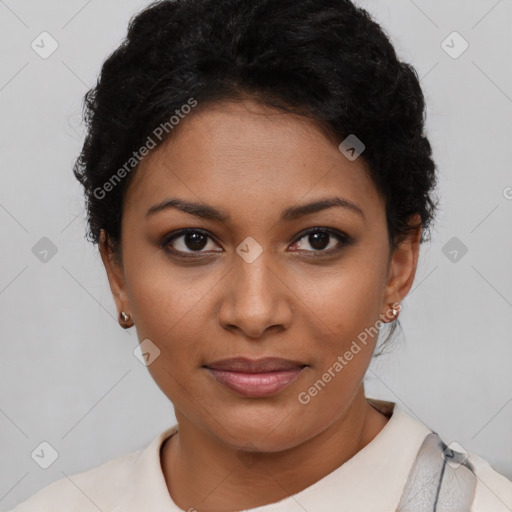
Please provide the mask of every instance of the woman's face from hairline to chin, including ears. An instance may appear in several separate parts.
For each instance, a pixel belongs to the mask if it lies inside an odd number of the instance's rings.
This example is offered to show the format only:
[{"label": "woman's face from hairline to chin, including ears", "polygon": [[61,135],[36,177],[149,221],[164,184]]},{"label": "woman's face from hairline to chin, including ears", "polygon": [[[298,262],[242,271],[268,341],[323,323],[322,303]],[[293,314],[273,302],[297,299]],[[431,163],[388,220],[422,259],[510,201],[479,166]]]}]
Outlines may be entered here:
[{"label": "woman's face from hairline to chin, including ears", "polygon": [[[308,119],[246,100],[193,112],[175,130],[127,191],[124,272],[102,247],[118,309],[158,347],[148,369],[180,424],[233,447],[296,446],[360,391],[380,315],[412,283],[414,249],[390,259],[384,202],[362,159]],[[169,200],[202,208],[155,210]],[[296,366],[274,379],[210,368],[239,357]]]}]

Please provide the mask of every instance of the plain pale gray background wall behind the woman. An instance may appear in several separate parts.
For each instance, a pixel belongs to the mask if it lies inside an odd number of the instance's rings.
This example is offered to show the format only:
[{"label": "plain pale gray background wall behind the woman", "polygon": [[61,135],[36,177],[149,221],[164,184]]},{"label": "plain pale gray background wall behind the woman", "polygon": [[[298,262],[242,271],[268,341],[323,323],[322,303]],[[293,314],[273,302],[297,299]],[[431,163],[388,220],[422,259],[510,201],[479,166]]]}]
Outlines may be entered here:
[{"label": "plain pale gray background wall behind the woman", "polygon": [[[3,511],[175,421],[133,355],[134,329],[116,322],[71,172],[82,96],[147,3],[0,0]],[[359,4],[421,77],[441,191],[400,316],[404,334],[370,367],[367,394],[400,403],[512,478],[512,2]],[[59,45],[47,59],[31,48],[43,31]],[[442,46],[453,31],[469,43],[457,58]],[[461,48],[453,36],[447,44]],[[43,237],[57,249],[46,262],[32,250]],[[59,453],[46,470],[31,458],[42,441]]]}]

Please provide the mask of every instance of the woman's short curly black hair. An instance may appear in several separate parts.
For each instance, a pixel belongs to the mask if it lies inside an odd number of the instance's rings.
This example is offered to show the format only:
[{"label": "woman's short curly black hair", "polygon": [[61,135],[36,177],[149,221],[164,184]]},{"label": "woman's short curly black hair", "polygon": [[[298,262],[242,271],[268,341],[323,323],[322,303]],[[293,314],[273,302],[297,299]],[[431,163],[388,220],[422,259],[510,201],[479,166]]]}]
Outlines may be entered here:
[{"label": "woman's short curly black hair", "polygon": [[[338,144],[355,134],[385,199],[391,247],[419,227],[414,214],[429,240],[436,166],[424,96],[367,11],[349,0],[161,0],[130,20],[84,98],[87,135],[73,172],[89,241],[103,229],[120,254],[123,197],[137,169],[126,162],[155,127],[191,98],[203,108],[248,96],[307,116]],[[105,187],[121,168],[127,176]]]}]

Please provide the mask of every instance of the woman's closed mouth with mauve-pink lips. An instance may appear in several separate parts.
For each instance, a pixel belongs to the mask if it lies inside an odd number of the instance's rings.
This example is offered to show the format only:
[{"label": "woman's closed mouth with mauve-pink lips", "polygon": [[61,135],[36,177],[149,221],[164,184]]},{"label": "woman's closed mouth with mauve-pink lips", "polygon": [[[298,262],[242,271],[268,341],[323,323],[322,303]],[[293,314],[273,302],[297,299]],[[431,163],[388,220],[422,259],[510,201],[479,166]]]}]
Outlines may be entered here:
[{"label": "woman's closed mouth with mauve-pink lips", "polygon": [[279,393],[297,380],[307,367],[298,361],[275,357],[256,360],[238,357],[204,366],[217,382],[250,398]]}]

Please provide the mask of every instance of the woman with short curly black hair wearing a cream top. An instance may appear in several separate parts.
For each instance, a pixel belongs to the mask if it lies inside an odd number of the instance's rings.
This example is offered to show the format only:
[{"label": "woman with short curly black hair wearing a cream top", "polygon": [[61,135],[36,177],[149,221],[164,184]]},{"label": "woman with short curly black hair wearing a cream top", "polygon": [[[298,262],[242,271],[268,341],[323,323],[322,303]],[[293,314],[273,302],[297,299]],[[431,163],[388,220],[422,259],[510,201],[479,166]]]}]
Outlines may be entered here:
[{"label": "woman with short curly black hair wearing a cream top", "polygon": [[177,425],[15,511],[511,510],[512,482],[364,391],[434,218],[424,109],[348,0],[135,17],[74,171]]}]

